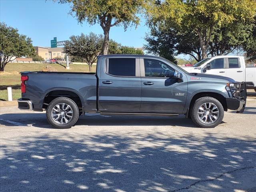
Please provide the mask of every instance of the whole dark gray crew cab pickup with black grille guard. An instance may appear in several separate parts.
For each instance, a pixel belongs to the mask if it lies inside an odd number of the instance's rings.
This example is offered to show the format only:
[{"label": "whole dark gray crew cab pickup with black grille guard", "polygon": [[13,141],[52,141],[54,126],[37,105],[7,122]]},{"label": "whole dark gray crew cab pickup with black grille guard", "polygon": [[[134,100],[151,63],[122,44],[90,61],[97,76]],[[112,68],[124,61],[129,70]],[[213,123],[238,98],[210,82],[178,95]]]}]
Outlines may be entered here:
[{"label": "whole dark gray crew cab pickup with black grille guard", "polygon": [[203,128],[222,122],[224,111],[243,112],[246,85],[231,78],[188,73],[169,60],[146,55],[98,56],[96,73],[21,72],[21,110],[46,110],[56,128],[80,115],[186,115]]}]

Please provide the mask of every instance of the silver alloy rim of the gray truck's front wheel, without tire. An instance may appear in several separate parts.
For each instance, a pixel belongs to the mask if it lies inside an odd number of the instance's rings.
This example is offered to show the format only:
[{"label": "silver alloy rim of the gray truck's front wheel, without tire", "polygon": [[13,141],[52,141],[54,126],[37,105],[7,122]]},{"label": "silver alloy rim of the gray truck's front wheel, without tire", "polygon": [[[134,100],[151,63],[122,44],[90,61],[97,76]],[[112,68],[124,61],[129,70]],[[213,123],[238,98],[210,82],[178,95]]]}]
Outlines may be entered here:
[{"label": "silver alloy rim of the gray truck's front wheel, without tire", "polygon": [[204,103],[198,108],[197,116],[203,123],[211,124],[218,119],[219,109],[213,103]]}]

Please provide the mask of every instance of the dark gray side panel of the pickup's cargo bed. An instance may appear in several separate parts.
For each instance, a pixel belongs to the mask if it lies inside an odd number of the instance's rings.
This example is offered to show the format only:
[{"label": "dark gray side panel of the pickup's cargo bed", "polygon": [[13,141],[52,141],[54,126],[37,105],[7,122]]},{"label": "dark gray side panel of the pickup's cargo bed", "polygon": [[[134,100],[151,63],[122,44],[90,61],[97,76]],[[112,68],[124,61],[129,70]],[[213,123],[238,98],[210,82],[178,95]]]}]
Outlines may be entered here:
[{"label": "dark gray side panel of the pickup's cargo bed", "polygon": [[26,93],[22,98],[30,99],[34,104],[34,110],[42,111],[47,104],[45,98],[54,96],[59,91],[64,95],[75,93],[82,102],[82,106],[88,109],[96,109],[97,77],[95,72],[21,72],[22,76],[28,76],[26,81]]}]

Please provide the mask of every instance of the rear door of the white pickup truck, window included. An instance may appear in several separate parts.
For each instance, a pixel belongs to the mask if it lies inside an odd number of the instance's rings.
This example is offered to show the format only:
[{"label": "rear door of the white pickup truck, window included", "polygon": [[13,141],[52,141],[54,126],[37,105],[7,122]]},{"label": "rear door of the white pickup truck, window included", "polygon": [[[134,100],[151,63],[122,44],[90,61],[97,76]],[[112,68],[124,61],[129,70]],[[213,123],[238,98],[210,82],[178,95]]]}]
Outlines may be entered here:
[{"label": "rear door of the white pickup truck, window included", "polygon": [[226,76],[234,79],[238,82],[244,81],[245,76],[245,68],[241,64],[239,58],[225,58],[226,62],[228,63],[227,69],[226,69]]}]

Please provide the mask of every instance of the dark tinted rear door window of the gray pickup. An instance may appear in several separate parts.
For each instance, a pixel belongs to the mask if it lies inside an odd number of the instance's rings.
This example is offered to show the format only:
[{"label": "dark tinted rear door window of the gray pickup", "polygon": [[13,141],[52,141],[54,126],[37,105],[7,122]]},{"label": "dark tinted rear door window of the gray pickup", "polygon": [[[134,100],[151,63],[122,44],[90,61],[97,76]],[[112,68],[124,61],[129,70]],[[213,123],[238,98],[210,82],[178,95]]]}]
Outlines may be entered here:
[{"label": "dark tinted rear door window of the gray pickup", "polygon": [[116,76],[135,76],[135,58],[108,59],[108,74]]}]

